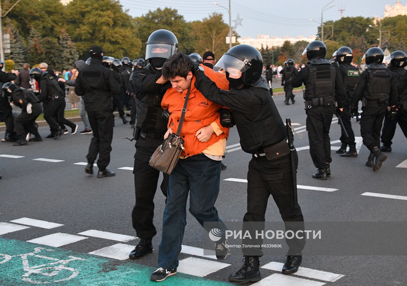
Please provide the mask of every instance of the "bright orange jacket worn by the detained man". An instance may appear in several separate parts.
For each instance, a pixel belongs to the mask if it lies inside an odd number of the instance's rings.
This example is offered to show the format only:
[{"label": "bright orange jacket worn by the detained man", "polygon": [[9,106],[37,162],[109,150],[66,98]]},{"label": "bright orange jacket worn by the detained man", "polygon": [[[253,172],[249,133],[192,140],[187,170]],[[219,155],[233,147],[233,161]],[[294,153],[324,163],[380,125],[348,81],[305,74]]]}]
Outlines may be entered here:
[{"label": "bright orange jacket worn by the detained man", "polygon": [[[224,74],[214,73],[212,69],[201,65],[204,68],[204,73],[216,83],[216,85],[223,89],[229,89],[229,82]],[[202,153],[208,146],[218,142],[222,138],[228,138],[229,128],[222,127],[220,123],[220,105],[207,100],[201,92],[195,88],[195,76],[191,81],[191,91],[189,94],[188,105],[185,112],[184,123],[181,129],[181,138],[185,140],[184,148],[182,151],[184,156],[192,156]],[[177,92],[175,88],[168,88],[161,101],[163,109],[168,108],[171,113],[168,120],[168,127],[174,133],[177,133],[179,119],[181,118],[182,108],[184,107],[185,97],[187,90],[181,93]],[[223,131],[219,136],[213,133],[208,142],[199,142],[195,133],[202,127],[216,122],[219,128]]]}]

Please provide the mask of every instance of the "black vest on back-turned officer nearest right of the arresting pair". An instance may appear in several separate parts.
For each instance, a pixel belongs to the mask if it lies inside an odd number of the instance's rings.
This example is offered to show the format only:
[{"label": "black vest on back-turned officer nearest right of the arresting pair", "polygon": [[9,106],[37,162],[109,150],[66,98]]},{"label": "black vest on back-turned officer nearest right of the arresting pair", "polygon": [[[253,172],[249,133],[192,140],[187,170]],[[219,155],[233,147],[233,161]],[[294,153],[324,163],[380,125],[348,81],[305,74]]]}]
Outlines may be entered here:
[{"label": "black vest on back-turned officer nearest right of the arresting pair", "polygon": [[312,59],[306,65],[309,68],[308,79],[305,84],[305,100],[311,100],[317,97],[335,95],[336,70],[328,60]]}]

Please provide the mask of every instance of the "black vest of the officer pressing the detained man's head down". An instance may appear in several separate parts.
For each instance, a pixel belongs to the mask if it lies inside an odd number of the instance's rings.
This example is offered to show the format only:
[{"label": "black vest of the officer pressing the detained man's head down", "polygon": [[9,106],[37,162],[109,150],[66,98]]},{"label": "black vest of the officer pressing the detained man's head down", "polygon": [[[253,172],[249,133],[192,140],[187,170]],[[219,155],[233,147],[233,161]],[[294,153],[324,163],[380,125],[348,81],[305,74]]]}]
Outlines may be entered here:
[{"label": "black vest of the officer pressing the detained man's head down", "polygon": [[270,146],[287,138],[287,131],[270,92],[260,87],[249,87],[263,102],[263,108],[255,120],[249,120],[240,112],[233,117],[240,137],[242,150],[254,154],[261,147]]}]

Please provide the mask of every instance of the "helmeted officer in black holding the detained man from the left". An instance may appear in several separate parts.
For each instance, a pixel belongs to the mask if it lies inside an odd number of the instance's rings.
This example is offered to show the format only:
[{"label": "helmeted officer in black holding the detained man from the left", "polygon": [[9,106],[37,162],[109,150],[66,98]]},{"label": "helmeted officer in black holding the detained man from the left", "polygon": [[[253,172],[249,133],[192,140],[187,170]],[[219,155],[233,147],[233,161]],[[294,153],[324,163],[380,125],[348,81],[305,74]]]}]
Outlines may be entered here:
[{"label": "helmeted officer in black holding the detained man from the left", "polygon": [[[151,239],[157,231],[153,225],[154,195],[160,172],[149,166],[151,155],[160,146],[167,131],[168,119],[162,118],[161,100],[171,83],[164,80],[162,66],[178,50],[178,40],[167,30],[153,32],[146,43],[146,60],[149,64],[134,70],[132,83],[136,92],[136,154],[134,154],[134,187],[136,204],[131,213],[133,228],[140,238],[130,252],[130,259],[138,259],[153,251]],[[161,191],[166,196],[168,175],[164,174]]]}]

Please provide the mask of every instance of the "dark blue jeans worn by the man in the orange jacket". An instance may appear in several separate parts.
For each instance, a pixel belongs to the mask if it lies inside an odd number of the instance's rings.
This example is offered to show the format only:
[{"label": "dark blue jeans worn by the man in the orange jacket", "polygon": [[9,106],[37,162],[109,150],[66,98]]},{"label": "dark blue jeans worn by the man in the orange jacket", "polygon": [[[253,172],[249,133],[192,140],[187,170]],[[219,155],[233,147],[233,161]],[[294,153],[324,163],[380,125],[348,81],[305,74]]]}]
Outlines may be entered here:
[{"label": "dark blue jeans worn by the man in the orange jacket", "polygon": [[169,178],[167,203],[162,217],[159,267],[178,267],[178,254],[186,225],[188,193],[189,212],[200,225],[204,226],[204,221],[219,222],[219,228],[225,228],[214,206],[219,194],[220,174],[221,161],[209,159],[204,154],[178,161]]}]

